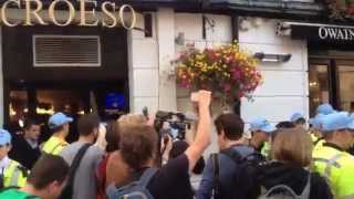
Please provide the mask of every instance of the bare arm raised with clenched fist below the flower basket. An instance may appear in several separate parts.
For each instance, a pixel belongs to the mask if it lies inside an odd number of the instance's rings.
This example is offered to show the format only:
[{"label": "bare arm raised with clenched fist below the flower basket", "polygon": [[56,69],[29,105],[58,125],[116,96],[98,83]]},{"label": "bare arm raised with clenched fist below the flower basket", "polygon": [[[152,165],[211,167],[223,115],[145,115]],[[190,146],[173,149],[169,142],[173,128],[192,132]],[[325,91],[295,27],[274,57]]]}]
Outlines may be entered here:
[{"label": "bare arm raised with clenched fist below the flower basket", "polygon": [[198,109],[199,109],[199,123],[197,127],[196,139],[185,151],[189,160],[189,171],[191,171],[202,153],[211,143],[211,117],[210,117],[210,98],[211,93],[207,91],[198,92]]}]

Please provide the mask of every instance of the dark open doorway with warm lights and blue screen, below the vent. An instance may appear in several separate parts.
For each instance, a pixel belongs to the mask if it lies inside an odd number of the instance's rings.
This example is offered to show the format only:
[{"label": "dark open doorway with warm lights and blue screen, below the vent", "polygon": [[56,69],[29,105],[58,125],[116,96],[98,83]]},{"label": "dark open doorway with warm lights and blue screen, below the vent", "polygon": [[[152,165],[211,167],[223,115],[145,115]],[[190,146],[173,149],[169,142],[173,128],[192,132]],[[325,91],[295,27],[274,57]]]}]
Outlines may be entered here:
[{"label": "dark open doorway with warm lights and blue screen, below the vent", "polygon": [[103,121],[116,119],[128,112],[127,84],[124,82],[85,82],[72,84],[27,83],[10,84],[6,92],[4,109],[7,128],[20,130],[27,117],[35,117],[42,124],[42,140],[50,132],[46,128],[49,117],[56,112],[74,118],[69,142],[77,138],[76,121],[87,113],[96,113]]}]

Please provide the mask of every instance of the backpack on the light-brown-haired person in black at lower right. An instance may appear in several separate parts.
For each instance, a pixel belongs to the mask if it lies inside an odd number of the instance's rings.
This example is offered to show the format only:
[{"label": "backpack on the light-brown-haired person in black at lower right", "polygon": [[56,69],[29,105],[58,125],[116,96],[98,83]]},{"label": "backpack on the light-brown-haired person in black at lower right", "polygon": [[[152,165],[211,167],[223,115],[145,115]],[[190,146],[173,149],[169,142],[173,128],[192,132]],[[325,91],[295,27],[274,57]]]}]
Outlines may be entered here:
[{"label": "backpack on the light-brown-haired person in black at lower right", "polygon": [[[264,188],[262,188],[264,192]],[[278,185],[268,189],[259,199],[309,199],[311,190],[311,172],[309,172],[309,178],[305,188],[302,193],[298,196],[293,189],[285,185]]]}]

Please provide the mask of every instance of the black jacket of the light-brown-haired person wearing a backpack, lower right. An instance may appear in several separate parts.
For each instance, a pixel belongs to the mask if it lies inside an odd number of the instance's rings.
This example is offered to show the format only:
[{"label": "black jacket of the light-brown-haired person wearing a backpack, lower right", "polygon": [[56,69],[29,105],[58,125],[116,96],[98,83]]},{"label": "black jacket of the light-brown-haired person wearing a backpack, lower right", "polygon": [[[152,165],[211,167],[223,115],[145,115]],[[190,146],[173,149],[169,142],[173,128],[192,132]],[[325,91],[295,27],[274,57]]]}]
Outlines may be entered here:
[{"label": "black jacket of the light-brown-haired person wearing a backpack, lower right", "polygon": [[[266,189],[278,185],[292,188],[301,195],[306,186],[309,171],[302,167],[290,166],[281,163],[269,163],[259,169],[259,182]],[[311,199],[333,199],[330,186],[317,172],[311,174]]]}]

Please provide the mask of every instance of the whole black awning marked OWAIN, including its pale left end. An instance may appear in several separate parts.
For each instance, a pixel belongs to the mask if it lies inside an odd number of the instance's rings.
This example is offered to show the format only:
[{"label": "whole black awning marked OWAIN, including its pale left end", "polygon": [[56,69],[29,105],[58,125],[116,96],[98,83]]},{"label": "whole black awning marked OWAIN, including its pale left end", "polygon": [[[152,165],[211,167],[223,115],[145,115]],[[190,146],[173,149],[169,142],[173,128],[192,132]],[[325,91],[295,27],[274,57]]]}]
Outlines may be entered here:
[{"label": "whole black awning marked OWAIN, including its pale left end", "polygon": [[311,42],[354,44],[354,27],[352,25],[279,22],[277,33]]}]

